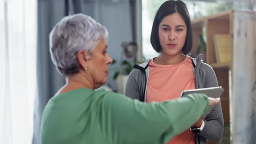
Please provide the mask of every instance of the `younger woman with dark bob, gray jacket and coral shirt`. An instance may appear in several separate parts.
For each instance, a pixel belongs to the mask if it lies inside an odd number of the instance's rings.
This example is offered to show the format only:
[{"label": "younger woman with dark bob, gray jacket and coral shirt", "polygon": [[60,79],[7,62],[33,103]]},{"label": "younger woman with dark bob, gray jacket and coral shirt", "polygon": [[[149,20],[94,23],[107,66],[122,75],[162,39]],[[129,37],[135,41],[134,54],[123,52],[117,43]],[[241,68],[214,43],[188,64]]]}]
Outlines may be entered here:
[{"label": "younger woman with dark bob, gray jacket and coral shirt", "polygon": [[[185,89],[218,86],[216,75],[201,56],[187,54],[192,47],[192,29],[187,6],[182,1],[166,1],[158,9],[150,42],[159,56],[135,65],[127,79],[125,95],[150,103],[179,98]],[[191,107],[193,110],[194,107]],[[182,119],[181,119],[182,120]],[[187,119],[190,121],[190,119]],[[224,129],[221,104],[168,143],[219,141]]]}]

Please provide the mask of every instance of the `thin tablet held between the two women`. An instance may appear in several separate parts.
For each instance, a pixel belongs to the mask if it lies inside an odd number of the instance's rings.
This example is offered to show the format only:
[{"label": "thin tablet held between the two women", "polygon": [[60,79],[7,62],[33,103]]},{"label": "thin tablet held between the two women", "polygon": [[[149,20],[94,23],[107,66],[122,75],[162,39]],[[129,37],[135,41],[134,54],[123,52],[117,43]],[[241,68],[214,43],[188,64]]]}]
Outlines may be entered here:
[{"label": "thin tablet held between the two women", "polygon": [[[224,89],[221,86],[220,87],[189,89],[189,90],[183,91],[181,93],[181,97],[183,97],[184,95],[190,94],[190,93],[204,93],[208,97],[220,98],[220,95],[222,95],[223,92],[224,92]],[[206,115],[208,115],[211,112],[212,107],[213,106],[209,106],[209,109],[208,109]]]}]

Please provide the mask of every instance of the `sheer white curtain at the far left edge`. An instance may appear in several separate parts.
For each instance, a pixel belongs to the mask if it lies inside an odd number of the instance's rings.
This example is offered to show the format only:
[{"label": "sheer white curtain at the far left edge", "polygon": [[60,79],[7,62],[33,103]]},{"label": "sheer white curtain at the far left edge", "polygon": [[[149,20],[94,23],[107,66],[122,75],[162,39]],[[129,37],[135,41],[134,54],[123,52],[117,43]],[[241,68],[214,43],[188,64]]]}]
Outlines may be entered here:
[{"label": "sheer white curtain at the far left edge", "polygon": [[31,143],[36,95],[36,1],[0,1],[0,143]]}]

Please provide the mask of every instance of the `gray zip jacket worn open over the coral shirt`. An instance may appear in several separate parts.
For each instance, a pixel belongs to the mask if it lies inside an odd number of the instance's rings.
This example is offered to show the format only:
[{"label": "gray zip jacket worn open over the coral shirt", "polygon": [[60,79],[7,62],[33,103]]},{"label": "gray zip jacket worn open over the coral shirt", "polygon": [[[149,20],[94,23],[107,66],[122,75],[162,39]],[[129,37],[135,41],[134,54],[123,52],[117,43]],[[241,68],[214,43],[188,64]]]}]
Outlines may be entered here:
[{"label": "gray zip jacket worn open over the coral shirt", "polygon": [[[193,61],[196,88],[217,87],[217,77],[212,67],[202,62],[201,55],[197,56],[197,58],[190,58]],[[149,76],[148,63],[149,61],[133,66],[135,69],[128,76],[124,95],[132,99],[146,101]],[[205,127],[200,133],[196,134],[196,144],[205,144],[206,139],[219,141],[224,130],[222,105],[220,103],[215,105],[203,121],[205,122]]]}]

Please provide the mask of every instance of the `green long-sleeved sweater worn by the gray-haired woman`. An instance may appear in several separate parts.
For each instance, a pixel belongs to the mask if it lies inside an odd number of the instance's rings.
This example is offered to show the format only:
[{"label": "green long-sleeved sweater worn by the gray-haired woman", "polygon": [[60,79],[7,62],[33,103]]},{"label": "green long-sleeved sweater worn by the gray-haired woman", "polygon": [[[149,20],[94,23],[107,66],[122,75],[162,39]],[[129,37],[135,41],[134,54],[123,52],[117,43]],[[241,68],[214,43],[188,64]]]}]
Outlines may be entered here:
[{"label": "green long-sleeved sweater worn by the gray-haired woman", "polygon": [[202,117],[208,103],[204,94],[146,104],[118,93],[79,88],[49,100],[41,142],[166,143]]}]

